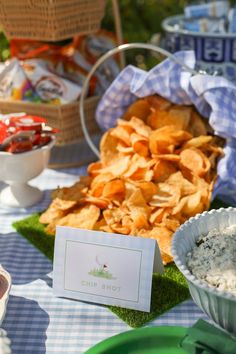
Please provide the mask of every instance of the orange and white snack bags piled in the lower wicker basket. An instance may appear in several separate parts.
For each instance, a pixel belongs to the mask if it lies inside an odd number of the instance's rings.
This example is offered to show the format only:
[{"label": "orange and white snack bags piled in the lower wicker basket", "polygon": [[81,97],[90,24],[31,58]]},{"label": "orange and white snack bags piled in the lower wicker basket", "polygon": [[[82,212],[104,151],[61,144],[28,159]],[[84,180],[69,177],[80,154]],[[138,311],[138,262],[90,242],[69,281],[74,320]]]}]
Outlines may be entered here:
[{"label": "orange and white snack bags piled in the lower wicker basket", "polygon": [[[104,30],[77,36],[65,46],[14,39],[10,43],[13,59],[0,72],[0,98],[50,104],[74,102],[92,65],[115,46],[115,36]],[[119,71],[116,58],[109,59],[90,80],[89,95],[102,94]]]}]

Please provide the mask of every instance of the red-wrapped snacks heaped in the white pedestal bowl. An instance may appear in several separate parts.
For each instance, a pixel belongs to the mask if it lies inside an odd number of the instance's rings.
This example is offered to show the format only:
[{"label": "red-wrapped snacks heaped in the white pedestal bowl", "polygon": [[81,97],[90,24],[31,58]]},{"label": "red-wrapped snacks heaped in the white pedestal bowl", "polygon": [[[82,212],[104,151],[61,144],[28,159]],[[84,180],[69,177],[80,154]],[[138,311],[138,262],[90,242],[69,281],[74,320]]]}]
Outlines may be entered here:
[{"label": "red-wrapped snacks heaped in the white pedestal bowl", "polygon": [[57,133],[42,117],[27,114],[5,116],[0,119],[0,151],[21,153],[37,149],[51,141]]}]

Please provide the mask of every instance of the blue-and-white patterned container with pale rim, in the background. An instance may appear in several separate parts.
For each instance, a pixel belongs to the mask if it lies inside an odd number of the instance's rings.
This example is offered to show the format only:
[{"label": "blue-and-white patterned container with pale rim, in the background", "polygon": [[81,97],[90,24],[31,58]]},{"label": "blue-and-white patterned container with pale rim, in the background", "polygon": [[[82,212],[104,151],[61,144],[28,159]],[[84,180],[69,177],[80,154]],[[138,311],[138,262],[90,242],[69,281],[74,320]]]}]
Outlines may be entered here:
[{"label": "blue-and-white patterned container with pale rim, in the background", "polygon": [[221,75],[236,84],[236,33],[200,33],[179,28],[183,15],[166,18],[165,49],[174,53],[194,50],[196,69]]}]

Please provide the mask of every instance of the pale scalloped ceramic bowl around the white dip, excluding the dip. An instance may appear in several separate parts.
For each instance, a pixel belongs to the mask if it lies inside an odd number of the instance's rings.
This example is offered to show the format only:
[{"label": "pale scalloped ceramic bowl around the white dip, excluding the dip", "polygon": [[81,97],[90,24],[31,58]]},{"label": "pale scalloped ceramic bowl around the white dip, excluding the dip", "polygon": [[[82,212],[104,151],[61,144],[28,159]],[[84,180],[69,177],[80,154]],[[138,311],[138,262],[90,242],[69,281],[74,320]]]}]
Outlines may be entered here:
[{"label": "pale scalloped ceramic bowl around the white dip, excluding the dip", "polygon": [[236,208],[221,208],[198,214],[174,234],[172,253],[175,264],[186,277],[194,302],[221,328],[236,336],[236,296],[197,279],[186,265],[186,255],[200,236],[213,228],[223,230],[236,224]]}]

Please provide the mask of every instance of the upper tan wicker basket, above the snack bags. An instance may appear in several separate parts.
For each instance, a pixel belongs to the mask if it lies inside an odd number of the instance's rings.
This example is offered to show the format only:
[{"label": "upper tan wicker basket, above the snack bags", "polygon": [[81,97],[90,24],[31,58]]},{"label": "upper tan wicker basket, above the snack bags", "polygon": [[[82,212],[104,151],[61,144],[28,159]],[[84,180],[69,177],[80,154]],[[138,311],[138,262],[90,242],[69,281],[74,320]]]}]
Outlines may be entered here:
[{"label": "upper tan wicker basket, above the snack bags", "polygon": [[100,28],[105,0],[0,0],[8,38],[59,41]]}]

